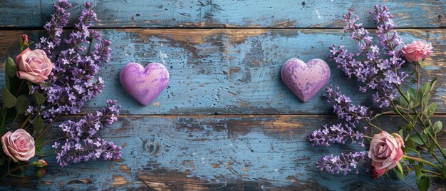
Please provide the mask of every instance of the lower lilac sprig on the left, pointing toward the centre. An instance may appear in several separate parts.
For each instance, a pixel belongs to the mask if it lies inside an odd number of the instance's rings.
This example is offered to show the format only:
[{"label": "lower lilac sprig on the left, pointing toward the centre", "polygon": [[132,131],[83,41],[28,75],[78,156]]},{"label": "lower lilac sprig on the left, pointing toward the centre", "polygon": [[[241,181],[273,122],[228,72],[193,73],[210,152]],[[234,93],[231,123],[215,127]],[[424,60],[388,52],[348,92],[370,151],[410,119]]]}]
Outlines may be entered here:
[{"label": "lower lilac sprig on the left, pointing toward the centre", "polygon": [[[107,108],[96,111],[95,115],[85,115],[77,122],[68,120],[61,123],[59,127],[66,133],[66,141],[57,153],[57,162],[61,167],[68,162],[78,163],[90,159],[96,160],[103,157],[104,160],[115,160],[121,157],[121,148],[113,142],[107,142],[93,135],[98,130],[112,125],[118,118],[120,105],[116,100],[107,100]],[[60,143],[56,142],[53,148],[58,148]]]}]

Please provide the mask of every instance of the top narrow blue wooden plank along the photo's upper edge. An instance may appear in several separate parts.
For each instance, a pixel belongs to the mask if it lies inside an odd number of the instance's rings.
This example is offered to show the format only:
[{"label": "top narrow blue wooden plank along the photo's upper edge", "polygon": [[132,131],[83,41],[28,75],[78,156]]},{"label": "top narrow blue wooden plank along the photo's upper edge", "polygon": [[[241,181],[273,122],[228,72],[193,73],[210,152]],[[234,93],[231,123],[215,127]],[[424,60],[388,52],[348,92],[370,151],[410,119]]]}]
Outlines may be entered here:
[{"label": "top narrow blue wooden plank along the photo's upper edge", "polygon": [[[73,2],[73,1],[72,1]],[[73,10],[84,1],[74,1]],[[41,27],[53,11],[52,1],[0,1],[0,26]],[[375,4],[385,4],[399,27],[446,26],[446,1],[287,1],[287,0],[93,0],[98,27],[192,28],[342,28],[342,14],[355,11],[374,26],[368,14]],[[77,16],[77,14],[73,14]]]}]

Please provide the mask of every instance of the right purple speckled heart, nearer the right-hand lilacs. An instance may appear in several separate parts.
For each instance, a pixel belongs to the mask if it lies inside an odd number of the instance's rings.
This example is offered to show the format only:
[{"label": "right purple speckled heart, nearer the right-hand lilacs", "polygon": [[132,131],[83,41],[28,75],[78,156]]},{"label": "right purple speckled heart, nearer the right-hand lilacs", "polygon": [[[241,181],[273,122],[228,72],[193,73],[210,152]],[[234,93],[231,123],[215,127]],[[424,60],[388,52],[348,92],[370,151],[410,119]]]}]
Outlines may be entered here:
[{"label": "right purple speckled heart, nearer the right-hand lilacs", "polygon": [[303,102],[313,98],[330,79],[330,67],[321,59],[304,63],[296,58],[289,59],[281,69],[281,78],[294,95]]}]

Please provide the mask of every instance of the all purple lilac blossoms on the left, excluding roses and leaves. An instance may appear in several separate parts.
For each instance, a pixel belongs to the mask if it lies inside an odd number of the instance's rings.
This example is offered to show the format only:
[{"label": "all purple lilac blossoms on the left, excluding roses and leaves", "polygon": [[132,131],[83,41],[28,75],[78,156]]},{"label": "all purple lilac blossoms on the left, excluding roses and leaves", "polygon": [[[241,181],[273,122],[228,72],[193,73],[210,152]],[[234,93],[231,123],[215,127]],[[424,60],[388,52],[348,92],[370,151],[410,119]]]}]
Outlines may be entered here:
[{"label": "all purple lilac blossoms on the left, excluding roses and leaves", "polygon": [[[37,43],[36,48],[51,56],[54,68],[46,84],[33,85],[31,88],[32,93],[43,93],[46,103],[31,106],[26,110],[26,115],[32,115],[32,118],[40,116],[48,121],[55,120],[59,115],[81,112],[86,101],[101,93],[104,82],[97,74],[100,64],[110,60],[111,51],[111,42],[103,39],[98,31],[89,29],[91,22],[96,21],[96,14],[91,10],[93,4],[84,4],[85,9],[75,24],[76,30],[71,31],[68,38],[63,40],[61,33],[70,16],[65,9],[71,7],[71,4],[66,0],[59,0],[58,4],[53,5],[56,14],[53,14],[51,21],[44,26],[49,37],[41,38],[41,43]],[[55,51],[59,49],[60,51]],[[77,122],[68,120],[61,123],[59,127],[66,133],[65,143],[56,141],[52,145],[58,150],[58,164],[65,167],[70,162],[90,159],[119,159],[119,146],[93,137],[98,130],[118,120],[116,116],[119,115],[119,109],[120,105],[116,105],[115,100],[107,100],[107,108],[98,110],[95,114],[87,114]]]}]

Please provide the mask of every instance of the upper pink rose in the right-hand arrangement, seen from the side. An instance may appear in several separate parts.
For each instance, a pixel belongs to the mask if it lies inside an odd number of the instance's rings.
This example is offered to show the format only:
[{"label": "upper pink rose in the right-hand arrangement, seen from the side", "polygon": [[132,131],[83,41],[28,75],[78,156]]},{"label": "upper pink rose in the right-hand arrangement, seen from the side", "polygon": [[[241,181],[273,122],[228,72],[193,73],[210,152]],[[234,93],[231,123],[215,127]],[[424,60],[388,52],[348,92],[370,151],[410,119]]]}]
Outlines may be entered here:
[{"label": "upper pink rose in the right-hand arrangement, seen from the side", "polygon": [[414,41],[404,46],[401,51],[406,60],[410,62],[418,62],[432,54],[432,44],[425,41]]}]

